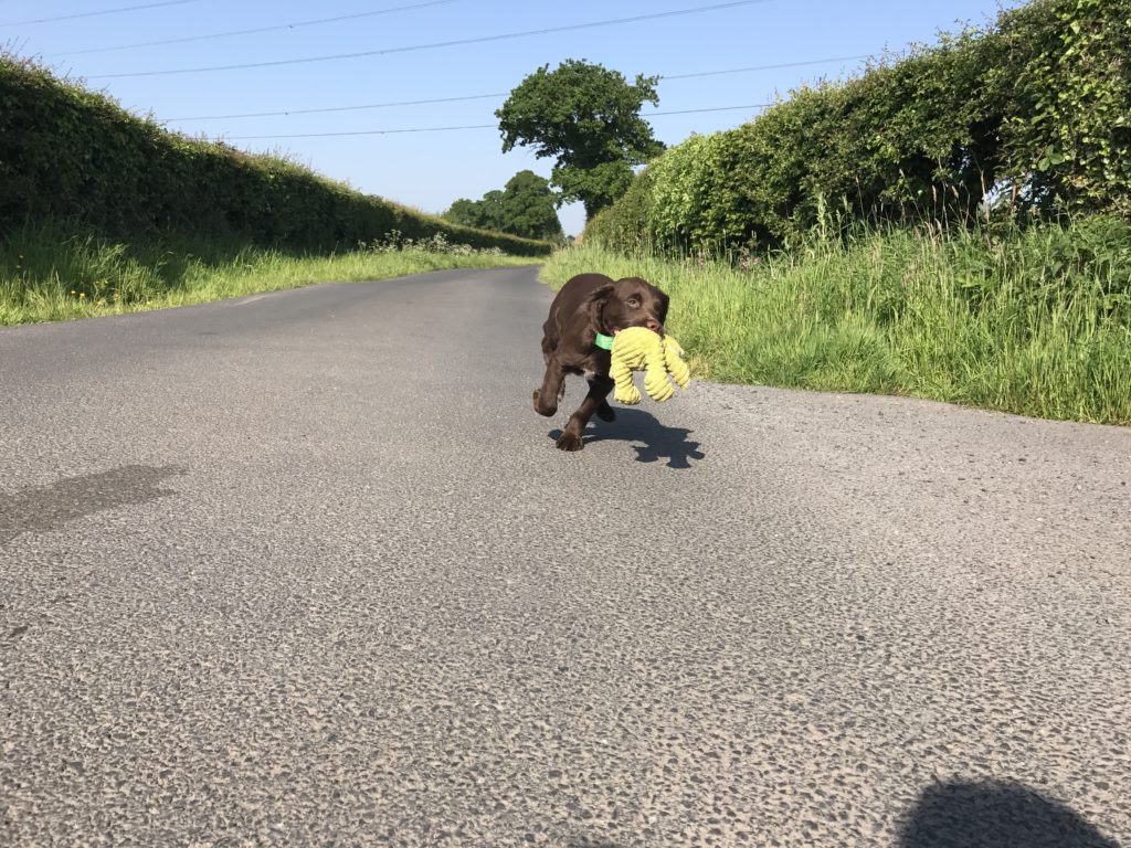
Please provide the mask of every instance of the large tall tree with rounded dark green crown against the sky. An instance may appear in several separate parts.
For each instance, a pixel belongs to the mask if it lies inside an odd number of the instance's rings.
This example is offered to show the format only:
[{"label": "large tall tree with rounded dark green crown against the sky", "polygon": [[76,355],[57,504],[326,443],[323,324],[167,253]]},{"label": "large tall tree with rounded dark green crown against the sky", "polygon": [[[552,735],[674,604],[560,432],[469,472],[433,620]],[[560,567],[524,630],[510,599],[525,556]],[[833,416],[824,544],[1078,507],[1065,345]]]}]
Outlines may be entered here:
[{"label": "large tall tree with rounded dark green crown against the sky", "polygon": [[637,75],[630,85],[618,71],[568,59],[543,66],[510,93],[495,112],[503,153],[518,146],[556,157],[551,182],[560,202],[580,200],[587,217],[612,204],[632,182],[633,165],[664,149],[640,118],[656,105],[659,77]]}]

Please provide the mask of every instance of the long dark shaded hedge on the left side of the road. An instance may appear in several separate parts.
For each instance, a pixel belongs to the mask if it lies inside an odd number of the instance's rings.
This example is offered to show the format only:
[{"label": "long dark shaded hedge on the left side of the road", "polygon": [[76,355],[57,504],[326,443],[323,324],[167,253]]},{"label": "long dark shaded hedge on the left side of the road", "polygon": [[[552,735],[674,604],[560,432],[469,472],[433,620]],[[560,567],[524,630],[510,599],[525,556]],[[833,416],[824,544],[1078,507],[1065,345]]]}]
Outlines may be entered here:
[{"label": "long dark shaded hedge on the left side of the road", "polygon": [[392,231],[500,248],[544,242],[461,227],[362,194],[303,167],[169,132],[109,97],[0,55],[0,228],[70,220],[114,236],[236,237],[326,251]]}]

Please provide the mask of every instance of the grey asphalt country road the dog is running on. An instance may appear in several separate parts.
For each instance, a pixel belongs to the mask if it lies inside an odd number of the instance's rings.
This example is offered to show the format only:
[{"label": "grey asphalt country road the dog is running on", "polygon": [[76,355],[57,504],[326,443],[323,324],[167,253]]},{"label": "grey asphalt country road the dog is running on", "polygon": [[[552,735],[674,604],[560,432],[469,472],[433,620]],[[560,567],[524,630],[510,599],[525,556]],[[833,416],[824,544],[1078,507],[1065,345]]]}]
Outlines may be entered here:
[{"label": "grey asphalt country road the dog is running on", "polygon": [[568,455],[550,300],[0,329],[0,845],[1131,848],[1131,430],[692,383]]}]

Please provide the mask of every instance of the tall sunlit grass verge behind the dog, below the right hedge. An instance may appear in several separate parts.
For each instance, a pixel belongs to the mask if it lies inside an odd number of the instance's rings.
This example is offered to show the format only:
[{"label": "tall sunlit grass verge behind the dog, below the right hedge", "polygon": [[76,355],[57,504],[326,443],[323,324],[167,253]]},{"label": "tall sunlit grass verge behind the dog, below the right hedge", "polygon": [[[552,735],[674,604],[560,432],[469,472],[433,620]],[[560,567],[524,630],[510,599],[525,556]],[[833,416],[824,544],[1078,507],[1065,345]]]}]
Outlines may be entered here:
[{"label": "tall sunlit grass verge behind the dog, below the right hedge", "polygon": [[700,375],[1131,424],[1131,226],[890,230],[737,262],[586,245],[543,269],[640,275]]}]

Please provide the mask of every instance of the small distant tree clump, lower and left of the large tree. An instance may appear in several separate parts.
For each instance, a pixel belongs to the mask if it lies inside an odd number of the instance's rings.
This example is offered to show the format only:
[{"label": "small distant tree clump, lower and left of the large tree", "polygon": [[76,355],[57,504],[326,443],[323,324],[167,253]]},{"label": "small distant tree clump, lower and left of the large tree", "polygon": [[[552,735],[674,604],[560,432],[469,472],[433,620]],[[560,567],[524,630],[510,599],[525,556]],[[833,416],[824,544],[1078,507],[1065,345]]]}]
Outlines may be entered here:
[{"label": "small distant tree clump, lower and left of the large tree", "polygon": [[549,180],[533,171],[519,171],[506,188],[489,191],[482,200],[459,198],[443,217],[464,226],[553,241],[562,236],[555,200]]}]

